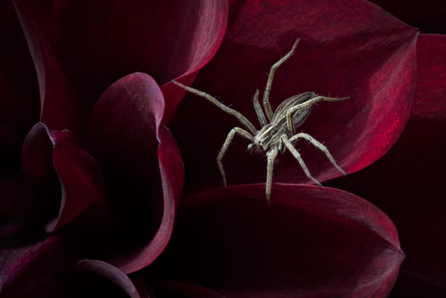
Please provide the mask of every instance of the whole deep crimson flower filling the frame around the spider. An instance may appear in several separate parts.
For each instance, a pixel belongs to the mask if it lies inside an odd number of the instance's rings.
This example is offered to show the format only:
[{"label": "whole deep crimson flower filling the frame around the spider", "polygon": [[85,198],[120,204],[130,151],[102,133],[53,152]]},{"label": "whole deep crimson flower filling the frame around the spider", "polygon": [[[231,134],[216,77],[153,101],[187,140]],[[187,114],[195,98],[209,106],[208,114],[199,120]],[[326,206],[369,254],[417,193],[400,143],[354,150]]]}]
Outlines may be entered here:
[{"label": "whole deep crimson flower filling the frame around the spider", "polygon": [[[445,73],[444,60],[430,50],[443,36],[419,38],[360,0],[14,4],[18,19],[2,4],[2,31],[15,30],[3,35],[9,68],[0,69],[2,295],[390,295],[405,258],[397,229],[352,193],[395,202],[399,188],[371,177],[384,179],[389,165],[397,170],[408,157],[381,156],[408,119],[429,122],[426,128],[443,121],[425,108],[445,110],[444,90],[432,81]],[[324,142],[348,173],[381,160],[324,183],[347,193],[305,185],[297,163],[279,156],[268,205],[264,156],[247,156],[237,140],[224,158],[230,186],[222,188],[215,157],[238,123],[171,80],[193,81],[255,119],[249,98],[296,38],[295,55],[277,70],[272,106],[304,91],[351,96],[314,107],[302,131]],[[423,132],[407,131],[396,154]],[[321,152],[298,146],[316,179],[339,176]],[[361,193],[369,184],[376,191]],[[401,214],[379,206],[392,219]],[[416,249],[408,254],[416,257]],[[403,272],[432,268],[415,266],[422,262]]]}]

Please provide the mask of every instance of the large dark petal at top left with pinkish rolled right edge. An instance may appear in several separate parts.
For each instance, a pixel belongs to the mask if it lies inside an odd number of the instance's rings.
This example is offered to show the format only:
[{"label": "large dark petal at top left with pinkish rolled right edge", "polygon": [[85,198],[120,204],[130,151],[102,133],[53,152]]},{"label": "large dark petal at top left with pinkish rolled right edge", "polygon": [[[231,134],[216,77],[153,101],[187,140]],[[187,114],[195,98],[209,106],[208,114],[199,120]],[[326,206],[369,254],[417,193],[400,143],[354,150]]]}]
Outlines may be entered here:
[{"label": "large dark petal at top left with pinkish rolled right edge", "polygon": [[60,59],[84,107],[123,75],[141,71],[166,84],[170,116],[183,92],[167,83],[192,82],[217,51],[228,17],[226,0],[20,3]]}]

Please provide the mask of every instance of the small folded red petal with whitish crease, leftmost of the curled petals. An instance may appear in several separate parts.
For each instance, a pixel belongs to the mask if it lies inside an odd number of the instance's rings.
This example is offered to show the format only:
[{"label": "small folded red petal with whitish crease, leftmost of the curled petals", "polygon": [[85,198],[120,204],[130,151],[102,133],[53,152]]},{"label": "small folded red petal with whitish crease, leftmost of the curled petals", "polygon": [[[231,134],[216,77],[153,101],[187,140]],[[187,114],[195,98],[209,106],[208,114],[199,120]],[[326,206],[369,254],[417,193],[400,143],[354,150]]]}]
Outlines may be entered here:
[{"label": "small folded red petal with whitish crease, leftmost of the curled petals", "polygon": [[43,123],[36,124],[24,142],[22,164],[31,177],[45,179],[54,170],[59,177],[62,191],[59,216],[47,225],[48,232],[102,204],[100,166],[70,131],[52,131]]}]

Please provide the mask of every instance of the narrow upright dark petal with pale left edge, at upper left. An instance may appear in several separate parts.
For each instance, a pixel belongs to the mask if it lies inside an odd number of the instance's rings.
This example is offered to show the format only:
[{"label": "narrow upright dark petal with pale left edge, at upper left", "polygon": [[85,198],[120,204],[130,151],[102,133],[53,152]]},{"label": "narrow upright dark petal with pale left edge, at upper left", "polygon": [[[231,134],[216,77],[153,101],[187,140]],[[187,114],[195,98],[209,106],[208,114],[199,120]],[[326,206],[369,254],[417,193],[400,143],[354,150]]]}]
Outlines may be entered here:
[{"label": "narrow upright dark petal with pale left edge, at upper left", "polygon": [[59,60],[40,31],[33,11],[27,10],[21,0],[14,0],[14,3],[36,67],[40,89],[40,121],[52,129],[79,132],[84,115],[77,96],[59,66]]}]

